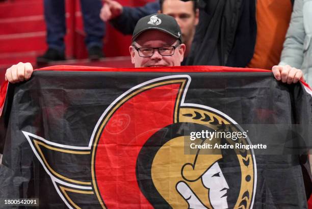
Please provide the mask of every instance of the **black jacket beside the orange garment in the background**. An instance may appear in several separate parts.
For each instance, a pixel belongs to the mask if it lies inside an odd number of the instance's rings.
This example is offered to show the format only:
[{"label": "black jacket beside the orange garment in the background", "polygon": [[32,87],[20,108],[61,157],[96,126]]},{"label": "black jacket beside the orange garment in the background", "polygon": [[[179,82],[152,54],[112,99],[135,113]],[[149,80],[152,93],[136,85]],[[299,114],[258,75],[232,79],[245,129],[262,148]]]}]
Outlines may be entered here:
[{"label": "black jacket beside the orange garment in the background", "polygon": [[255,40],[255,1],[199,0],[199,24],[187,65],[245,67]]}]

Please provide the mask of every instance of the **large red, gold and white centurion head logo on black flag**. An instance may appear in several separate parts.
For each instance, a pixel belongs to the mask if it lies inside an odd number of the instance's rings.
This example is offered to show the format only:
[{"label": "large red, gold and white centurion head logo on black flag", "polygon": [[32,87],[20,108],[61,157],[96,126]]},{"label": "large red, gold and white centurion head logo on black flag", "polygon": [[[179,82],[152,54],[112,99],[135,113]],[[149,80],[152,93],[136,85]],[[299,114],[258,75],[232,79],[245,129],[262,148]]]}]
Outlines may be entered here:
[{"label": "large red, gold and white centurion head logo on black flag", "polygon": [[128,89],[100,116],[88,146],[23,134],[69,208],[252,208],[253,150],[203,146],[249,138],[194,137],[244,130],[214,108],[185,103],[190,82],[173,75]]}]

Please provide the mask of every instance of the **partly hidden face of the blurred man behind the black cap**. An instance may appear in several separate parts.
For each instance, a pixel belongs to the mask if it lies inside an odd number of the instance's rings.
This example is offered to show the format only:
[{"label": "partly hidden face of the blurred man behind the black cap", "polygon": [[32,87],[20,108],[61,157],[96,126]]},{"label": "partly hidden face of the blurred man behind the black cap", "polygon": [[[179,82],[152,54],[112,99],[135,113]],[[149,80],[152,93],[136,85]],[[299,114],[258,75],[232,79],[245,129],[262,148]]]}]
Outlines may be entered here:
[{"label": "partly hidden face of the blurred man behind the black cap", "polygon": [[195,26],[198,24],[198,12],[195,14],[193,2],[180,0],[165,0],[162,13],[175,18],[181,28],[184,43],[188,43],[194,36]]}]

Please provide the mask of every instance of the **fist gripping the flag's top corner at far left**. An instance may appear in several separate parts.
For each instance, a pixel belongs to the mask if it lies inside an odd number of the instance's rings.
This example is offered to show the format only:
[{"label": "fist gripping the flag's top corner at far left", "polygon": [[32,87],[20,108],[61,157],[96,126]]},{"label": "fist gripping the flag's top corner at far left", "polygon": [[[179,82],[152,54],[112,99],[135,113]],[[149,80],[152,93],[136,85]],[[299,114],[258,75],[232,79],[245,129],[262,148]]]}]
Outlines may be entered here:
[{"label": "fist gripping the flag's top corner at far left", "polygon": [[18,63],[7,69],[5,79],[10,83],[28,80],[33,74],[33,71],[33,66],[30,63]]}]

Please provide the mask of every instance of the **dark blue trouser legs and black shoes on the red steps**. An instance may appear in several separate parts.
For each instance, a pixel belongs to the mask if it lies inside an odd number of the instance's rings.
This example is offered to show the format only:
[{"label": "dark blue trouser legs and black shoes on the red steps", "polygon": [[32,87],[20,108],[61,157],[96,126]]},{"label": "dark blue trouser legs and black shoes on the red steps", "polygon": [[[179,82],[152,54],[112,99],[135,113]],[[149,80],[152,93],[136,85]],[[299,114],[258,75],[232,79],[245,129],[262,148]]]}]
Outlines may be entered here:
[{"label": "dark blue trouser legs and black shoes on the red steps", "polygon": [[[102,39],[105,36],[105,23],[99,18],[102,7],[100,0],[81,0],[81,9],[86,32],[85,43],[90,59],[103,57]],[[37,57],[38,65],[65,59],[64,36],[66,34],[64,0],[44,0],[47,51]]]}]

